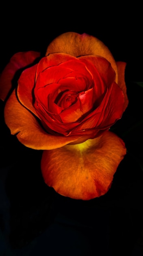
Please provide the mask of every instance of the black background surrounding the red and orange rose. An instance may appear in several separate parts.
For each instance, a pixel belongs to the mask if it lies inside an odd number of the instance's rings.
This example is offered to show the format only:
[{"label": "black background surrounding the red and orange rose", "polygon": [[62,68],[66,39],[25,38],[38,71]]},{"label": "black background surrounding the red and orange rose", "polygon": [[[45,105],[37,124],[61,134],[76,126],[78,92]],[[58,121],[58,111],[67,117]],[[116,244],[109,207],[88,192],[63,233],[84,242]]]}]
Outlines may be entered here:
[{"label": "black background surrounding the red and orange rose", "polygon": [[35,50],[44,55],[56,36],[87,33],[102,40],[116,61],[127,63],[129,105],[113,127],[128,150],[113,185],[101,198],[82,201],[58,195],[45,185],[42,152],[26,148],[10,135],[0,101],[0,253],[142,255],[143,88],[136,83],[143,82],[141,7],[42,2],[30,7],[24,2],[2,7],[1,14],[0,72],[16,52]]}]

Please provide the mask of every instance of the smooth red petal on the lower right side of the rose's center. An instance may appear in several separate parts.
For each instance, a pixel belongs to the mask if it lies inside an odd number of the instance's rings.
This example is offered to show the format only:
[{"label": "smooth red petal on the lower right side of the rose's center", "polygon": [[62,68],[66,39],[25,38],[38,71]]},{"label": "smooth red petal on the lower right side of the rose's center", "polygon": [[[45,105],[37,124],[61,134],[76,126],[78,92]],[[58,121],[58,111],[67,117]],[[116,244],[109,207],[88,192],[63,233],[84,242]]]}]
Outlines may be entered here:
[{"label": "smooth red petal on the lower right side of the rose's center", "polygon": [[123,114],[124,94],[116,83],[113,83],[106,92],[100,106],[91,112],[85,119],[72,130],[76,134],[82,129],[100,129],[110,128],[121,118]]}]

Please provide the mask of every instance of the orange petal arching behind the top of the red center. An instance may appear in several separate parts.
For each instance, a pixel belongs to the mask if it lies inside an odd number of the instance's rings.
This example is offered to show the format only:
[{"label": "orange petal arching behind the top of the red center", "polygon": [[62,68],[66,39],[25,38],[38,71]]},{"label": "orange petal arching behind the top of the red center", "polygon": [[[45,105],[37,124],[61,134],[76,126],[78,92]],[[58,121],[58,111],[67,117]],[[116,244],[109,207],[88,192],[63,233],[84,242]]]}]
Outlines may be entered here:
[{"label": "orange petal arching behind the top of the red center", "polygon": [[88,34],[78,34],[67,32],[55,38],[47,48],[45,55],[55,52],[63,52],[78,57],[83,55],[97,55],[106,58],[116,73],[117,82],[117,65],[109,49],[98,38]]}]

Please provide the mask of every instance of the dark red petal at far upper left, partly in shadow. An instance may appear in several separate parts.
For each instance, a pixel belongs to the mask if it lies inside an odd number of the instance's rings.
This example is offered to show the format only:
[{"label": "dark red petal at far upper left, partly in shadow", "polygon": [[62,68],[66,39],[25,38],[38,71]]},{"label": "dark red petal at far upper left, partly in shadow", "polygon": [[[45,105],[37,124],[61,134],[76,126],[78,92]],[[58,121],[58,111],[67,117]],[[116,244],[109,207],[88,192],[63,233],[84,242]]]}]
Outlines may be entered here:
[{"label": "dark red petal at far upper left, partly in shadow", "polygon": [[13,55],[0,76],[0,99],[2,101],[6,99],[12,88],[12,80],[17,70],[32,64],[38,57],[40,53],[34,51],[18,52]]}]

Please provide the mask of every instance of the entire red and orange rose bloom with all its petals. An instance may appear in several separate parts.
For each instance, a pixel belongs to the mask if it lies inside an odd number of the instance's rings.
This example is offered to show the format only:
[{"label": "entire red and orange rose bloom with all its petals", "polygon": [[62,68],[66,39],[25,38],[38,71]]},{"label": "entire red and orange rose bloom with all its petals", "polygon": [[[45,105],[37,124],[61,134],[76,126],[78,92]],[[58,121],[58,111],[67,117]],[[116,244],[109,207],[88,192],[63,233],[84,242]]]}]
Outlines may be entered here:
[{"label": "entire red and orange rose bloom with all its petals", "polygon": [[61,195],[89,200],[111,187],[126,154],[124,141],[109,131],[128,106],[125,67],[97,38],[67,32],[43,58],[19,52],[3,70],[6,125],[22,144],[43,150],[43,179]]}]

